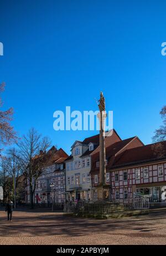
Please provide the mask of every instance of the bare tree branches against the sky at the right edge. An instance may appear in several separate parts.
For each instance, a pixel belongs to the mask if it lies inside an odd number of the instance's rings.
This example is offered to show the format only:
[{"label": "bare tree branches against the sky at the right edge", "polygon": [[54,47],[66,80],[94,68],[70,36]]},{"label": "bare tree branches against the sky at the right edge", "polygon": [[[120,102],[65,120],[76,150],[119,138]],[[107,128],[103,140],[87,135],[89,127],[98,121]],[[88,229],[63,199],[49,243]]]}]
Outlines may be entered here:
[{"label": "bare tree branches against the sky at the right edge", "polygon": [[162,107],[160,115],[163,119],[163,125],[159,129],[155,130],[155,135],[152,137],[153,142],[164,141],[166,139],[166,106]]}]

